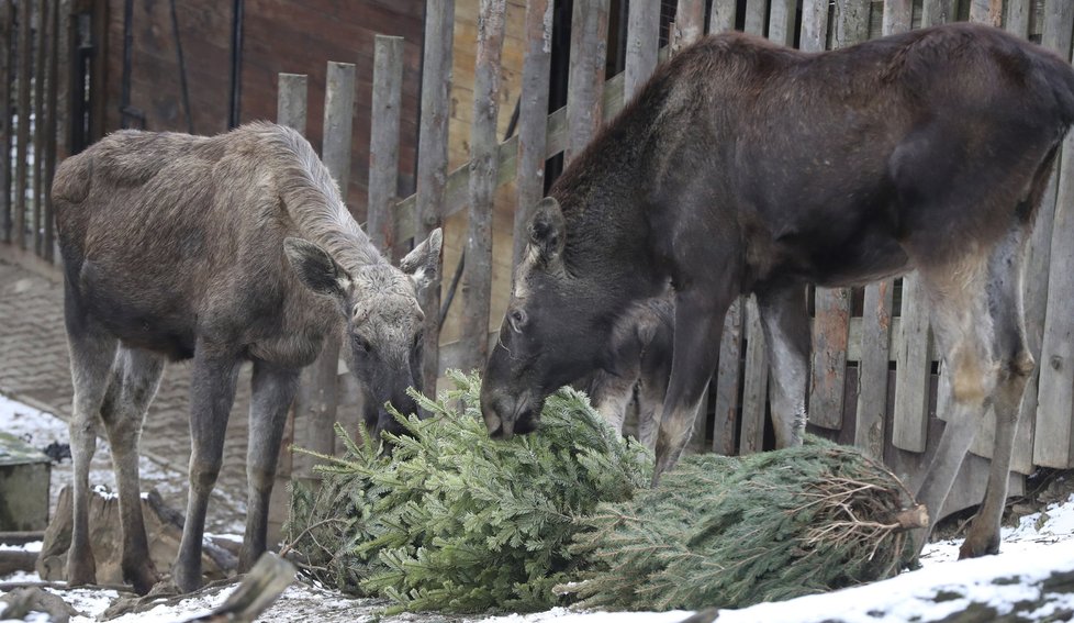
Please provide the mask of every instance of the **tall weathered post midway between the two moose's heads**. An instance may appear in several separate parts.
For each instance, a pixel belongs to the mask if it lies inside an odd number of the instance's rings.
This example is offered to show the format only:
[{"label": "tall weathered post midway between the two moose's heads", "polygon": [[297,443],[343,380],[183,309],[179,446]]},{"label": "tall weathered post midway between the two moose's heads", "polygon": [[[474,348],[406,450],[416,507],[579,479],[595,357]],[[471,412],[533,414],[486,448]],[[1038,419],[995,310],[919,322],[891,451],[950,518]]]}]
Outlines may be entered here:
[{"label": "tall weathered post midway between the two moose's heads", "polygon": [[496,121],[500,116],[500,57],[505,0],[481,0],[478,53],[473,70],[473,122],[470,125],[470,214],[462,270],[463,370],[483,369],[489,358],[492,304],[492,210],[496,196]]}]

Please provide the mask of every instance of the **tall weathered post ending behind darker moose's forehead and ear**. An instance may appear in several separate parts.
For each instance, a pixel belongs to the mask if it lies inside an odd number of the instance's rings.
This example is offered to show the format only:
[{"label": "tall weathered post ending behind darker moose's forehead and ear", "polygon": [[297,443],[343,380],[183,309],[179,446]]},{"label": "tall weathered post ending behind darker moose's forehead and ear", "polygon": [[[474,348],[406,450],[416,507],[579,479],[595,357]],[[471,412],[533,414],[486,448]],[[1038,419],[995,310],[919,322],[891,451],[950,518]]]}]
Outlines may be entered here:
[{"label": "tall weathered post ending behind darker moose's forehead and ear", "polygon": [[[637,4],[649,5],[648,2],[637,2]],[[511,254],[512,266],[516,266],[522,260],[526,243],[529,242],[529,221],[533,219],[534,208],[545,194],[548,78],[552,59],[552,0],[526,2],[526,54],[523,57],[522,96],[518,102],[518,166],[515,176],[517,201],[513,229],[514,248]],[[627,44],[628,73],[631,45]]]}]

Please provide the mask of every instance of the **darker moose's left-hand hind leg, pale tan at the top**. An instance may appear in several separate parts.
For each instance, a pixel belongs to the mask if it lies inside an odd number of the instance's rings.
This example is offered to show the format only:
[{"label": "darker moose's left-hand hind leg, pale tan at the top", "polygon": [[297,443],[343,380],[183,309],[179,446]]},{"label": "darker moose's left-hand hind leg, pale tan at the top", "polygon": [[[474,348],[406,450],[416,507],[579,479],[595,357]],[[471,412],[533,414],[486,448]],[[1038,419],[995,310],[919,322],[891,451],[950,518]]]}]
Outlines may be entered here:
[{"label": "darker moose's left-hand hind leg, pale tan at the top", "polygon": [[[917,500],[929,512],[930,532],[940,519],[943,501],[999,377],[992,353],[993,321],[988,312],[985,265],[985,258],[969,256],[941,267],[920,269],[932,308],[932,330],[951,374],[952,397],[947,426],[917,491]],[[918,534],[918,550],[927,537],[928,533]]]}]

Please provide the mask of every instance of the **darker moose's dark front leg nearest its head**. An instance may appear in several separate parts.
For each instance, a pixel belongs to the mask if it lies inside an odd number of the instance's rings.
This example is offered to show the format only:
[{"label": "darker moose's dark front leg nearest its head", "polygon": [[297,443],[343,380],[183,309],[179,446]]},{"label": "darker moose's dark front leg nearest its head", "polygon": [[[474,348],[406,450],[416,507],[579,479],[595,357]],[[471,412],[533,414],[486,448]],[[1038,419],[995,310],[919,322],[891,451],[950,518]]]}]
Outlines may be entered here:
[{"label": "darker moose's dark front leg nearest its head", "polygon": [[[725,280],[730,282],[730,280]],[[734,298],[729,286],[711,283],[675,297],[675,338],[671,379],[657,433],[657,465],[652,485],[679,460],[697,416],[708,378],[716,368],[724,314]],[[706,291],[707,290],[707,291]]]}]

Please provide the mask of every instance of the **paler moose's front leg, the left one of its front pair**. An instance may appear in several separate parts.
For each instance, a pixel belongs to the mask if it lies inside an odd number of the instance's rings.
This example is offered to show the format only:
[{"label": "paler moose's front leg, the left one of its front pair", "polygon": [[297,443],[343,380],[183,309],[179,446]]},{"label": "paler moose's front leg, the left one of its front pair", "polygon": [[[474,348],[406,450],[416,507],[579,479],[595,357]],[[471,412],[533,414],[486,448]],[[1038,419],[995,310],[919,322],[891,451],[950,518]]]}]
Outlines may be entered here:
[{"label": "paler moose's front leg, the left one of its front pair", "polygon": [[201,586],[201,539],[205,532],[209,494],[224,455],[224,431],[235,401],[238,360],[232,356],[194,351],[190,382],[190,492],[182,542],[176,557],[172,579],[183,592]]}]

